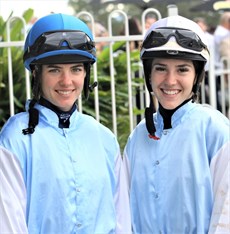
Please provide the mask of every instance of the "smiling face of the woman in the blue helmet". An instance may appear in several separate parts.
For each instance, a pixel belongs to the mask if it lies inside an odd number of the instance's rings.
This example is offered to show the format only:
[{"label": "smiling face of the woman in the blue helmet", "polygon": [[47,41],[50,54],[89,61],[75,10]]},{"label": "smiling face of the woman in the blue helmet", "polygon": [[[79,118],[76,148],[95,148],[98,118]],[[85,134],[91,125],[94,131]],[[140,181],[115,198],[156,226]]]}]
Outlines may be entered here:
[{"label": "smiling face of the woman in the blue helmet", "polygon": [[83,63],[43,65],[42,96],[60,110],[69,111],[83,90],[85,76]]}]

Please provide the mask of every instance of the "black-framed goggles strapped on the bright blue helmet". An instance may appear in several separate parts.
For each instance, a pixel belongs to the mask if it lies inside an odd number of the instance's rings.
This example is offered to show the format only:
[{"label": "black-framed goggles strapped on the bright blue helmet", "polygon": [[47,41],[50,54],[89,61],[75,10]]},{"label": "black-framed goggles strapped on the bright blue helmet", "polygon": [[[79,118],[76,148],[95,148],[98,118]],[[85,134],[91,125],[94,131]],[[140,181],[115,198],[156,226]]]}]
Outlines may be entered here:
[{"label": "black-framed goggles strapped on the bright blue helmet", "polygon": [[43,33],[38,37],[35,43],[25,51],[24,59],[49,51],[60,50],[62,47],[95,53],[95,43],[84,32],[55,31]]}]

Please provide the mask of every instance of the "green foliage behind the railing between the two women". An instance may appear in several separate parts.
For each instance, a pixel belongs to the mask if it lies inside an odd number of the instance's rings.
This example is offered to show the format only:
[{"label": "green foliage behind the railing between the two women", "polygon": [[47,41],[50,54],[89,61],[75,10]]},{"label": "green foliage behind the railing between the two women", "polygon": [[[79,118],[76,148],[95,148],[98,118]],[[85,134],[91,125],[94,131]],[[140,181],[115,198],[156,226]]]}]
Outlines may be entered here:
[{"label": "green foliage behind the railing between the two women", "polygon": [[[117,138],[121,150],[124,149],[128,136],[130,134],[129,120],[129,99],[128,99],[128,80],[127,80],[127,54],[124,50],[125,42],[117,42],[113,45],[114,74],[115,74],[115,98],[117,114]],[[131,70],[135,74],[139,71],[139,51],[131,52]],[[100,122],[113,130],[112,119],[112,98],[111,98],[111,77],[110,77],[110,49],[105,48],[97,57],[98,70],[98,90],[99,90],[99,111]],[[91,80],[93,78],[91,77]],[[132,96],[136,95],[136,88],[143,85],[144,79],[140,77],[132,78]],[[83,102],[85,113],[93,115],[91,107],[94,105],[94,95],[92,94],[87,101]],[[90,107],[90,108],[87,108]],[[90,110],[89,110],[90,109]],[[143,113],[143,110],[133,109],[134,119],[137,115]]]}]

